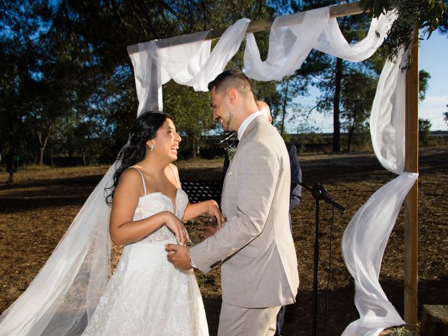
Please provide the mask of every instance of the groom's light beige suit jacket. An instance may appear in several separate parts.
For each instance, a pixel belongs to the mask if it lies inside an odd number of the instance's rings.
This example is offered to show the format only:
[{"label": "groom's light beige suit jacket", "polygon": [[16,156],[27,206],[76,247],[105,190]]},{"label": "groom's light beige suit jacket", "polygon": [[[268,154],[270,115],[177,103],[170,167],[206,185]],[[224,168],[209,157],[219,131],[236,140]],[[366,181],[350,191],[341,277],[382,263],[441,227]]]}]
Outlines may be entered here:
[{"label": "groom's light beige suit jacket", "polygon": [[295,302],[299,276],[289,228],[290,164],[266,118],[248,125],[225,176],[222,230],[190,248],[202,272],[222,261],[223,302],[274,307]]}]

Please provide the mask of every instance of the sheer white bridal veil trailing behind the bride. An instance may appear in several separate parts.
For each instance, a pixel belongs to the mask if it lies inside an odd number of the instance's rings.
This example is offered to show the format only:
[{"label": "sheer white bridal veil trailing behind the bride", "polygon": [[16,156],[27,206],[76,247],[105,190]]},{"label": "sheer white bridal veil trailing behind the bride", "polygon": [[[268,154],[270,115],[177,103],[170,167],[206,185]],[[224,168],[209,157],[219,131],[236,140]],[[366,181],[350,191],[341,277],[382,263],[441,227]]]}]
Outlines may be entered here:
[{"label": "sheer white bridal veil trailing behind the bride", "polygon": [[80,335],[109,281],[112,166],[27,290],[0,316],[0,335]]}]

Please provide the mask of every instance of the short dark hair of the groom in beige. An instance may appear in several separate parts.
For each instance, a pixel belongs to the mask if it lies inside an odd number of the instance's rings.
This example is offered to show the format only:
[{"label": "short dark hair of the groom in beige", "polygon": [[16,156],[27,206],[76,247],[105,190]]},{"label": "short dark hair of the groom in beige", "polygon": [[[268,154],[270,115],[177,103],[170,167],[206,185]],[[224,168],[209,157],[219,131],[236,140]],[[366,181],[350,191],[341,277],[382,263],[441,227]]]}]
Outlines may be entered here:
[{"label": "short dark hair of the groom in beige", "polygon": [[214,87],[221,94],[227,92],[231,87],[235,87],[245,97],[254,97],[251,81],[241,71],[226,70],[221,72],[208,85],[210,91]]}]

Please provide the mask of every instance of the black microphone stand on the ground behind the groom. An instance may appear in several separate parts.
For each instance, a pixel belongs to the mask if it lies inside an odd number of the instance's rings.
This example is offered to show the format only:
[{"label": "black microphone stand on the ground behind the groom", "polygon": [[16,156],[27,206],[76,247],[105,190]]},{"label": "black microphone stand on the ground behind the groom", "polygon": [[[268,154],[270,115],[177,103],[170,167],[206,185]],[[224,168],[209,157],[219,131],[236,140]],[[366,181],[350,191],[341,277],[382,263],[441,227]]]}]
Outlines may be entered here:
[{"label": "black microphone stand on the ground behind the groom", "polygon": [[337,204],[335,200],[332,199],[330,193],[327,189],[321,185],[321,183],[315,183],[313,188],[310,188],[306,184],[292,180],[293,183],[297,183],[299,186],[309,190],[311,195],[316,199],[316,237],[314,240],[314,283],[313,283],[313,331],[312,336],[316,336],[316,316],[317,316],[317,268],[319,263],[319,201],[323,200],[333,207],[336,207],[340,211],[344,211],[345,208],[342,205]]}]

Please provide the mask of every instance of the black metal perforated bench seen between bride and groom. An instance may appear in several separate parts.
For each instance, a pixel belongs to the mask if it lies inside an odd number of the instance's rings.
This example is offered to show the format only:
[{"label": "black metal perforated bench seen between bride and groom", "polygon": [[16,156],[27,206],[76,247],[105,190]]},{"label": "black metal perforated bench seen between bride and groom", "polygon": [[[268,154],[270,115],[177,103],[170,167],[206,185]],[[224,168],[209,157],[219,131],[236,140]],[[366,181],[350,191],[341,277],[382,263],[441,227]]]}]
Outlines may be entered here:
[{"label": "black metal perforated bench seen between bride and groom", "polygon": [[182,181],[190,203],[215,200],[221,204],[222,181]]}]

